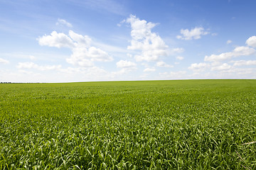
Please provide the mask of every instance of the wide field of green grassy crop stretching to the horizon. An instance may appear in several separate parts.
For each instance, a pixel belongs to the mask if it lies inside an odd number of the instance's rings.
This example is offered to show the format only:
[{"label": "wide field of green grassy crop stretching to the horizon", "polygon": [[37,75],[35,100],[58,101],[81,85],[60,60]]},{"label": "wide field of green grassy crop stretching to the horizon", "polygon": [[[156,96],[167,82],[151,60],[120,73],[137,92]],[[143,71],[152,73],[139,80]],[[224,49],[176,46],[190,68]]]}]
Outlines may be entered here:
[{"label": "wide field of green grassy crop stretching to the horizon", "polygon": [[0,169],[256,169],[255,141],[256,80],[0,84]]}]

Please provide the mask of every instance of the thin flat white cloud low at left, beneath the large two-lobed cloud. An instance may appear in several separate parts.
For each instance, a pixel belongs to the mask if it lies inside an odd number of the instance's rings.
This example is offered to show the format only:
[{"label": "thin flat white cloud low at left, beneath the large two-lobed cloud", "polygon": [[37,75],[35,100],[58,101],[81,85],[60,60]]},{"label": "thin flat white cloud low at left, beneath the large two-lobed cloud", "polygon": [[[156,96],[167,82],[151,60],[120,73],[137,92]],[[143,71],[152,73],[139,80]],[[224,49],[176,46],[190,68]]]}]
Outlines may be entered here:
[{"label": "thin flat white cloud low at left, beneath the large two-lobed cloud", "polygon": [[18,62],[17,68],[18,69],[38,69],[40,71],[46,71],[46,70],[60,69],[61,65],[40,66],[33,62]]}]

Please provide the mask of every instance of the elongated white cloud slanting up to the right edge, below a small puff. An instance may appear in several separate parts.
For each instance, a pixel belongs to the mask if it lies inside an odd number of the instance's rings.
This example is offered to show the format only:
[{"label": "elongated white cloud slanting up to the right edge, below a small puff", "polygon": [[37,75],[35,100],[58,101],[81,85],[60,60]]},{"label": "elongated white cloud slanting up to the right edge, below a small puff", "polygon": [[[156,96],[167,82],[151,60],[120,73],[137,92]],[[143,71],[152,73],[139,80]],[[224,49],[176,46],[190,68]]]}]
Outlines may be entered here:
[{"label": "elongated white cloud slanting up to the right edge, below a small puff", "polygon": [[220,55],[210,55],[210,56],[206,55],[204,60],[206,62],[219,62],[223,60],[229,60],[233,57],[253,55],[255,52],[256,52],[255,49],[251,47],[240,46],[240,47],[235,47],[233,52],[224,52],[224,53],[221,53]]}]

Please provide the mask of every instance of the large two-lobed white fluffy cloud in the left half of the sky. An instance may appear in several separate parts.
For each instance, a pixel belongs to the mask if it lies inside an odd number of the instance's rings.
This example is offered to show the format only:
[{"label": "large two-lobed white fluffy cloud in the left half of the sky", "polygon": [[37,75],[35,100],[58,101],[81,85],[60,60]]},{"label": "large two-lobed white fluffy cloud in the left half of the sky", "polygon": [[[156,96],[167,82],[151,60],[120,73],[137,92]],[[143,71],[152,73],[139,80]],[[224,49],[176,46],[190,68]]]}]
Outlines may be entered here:
[{"label": "large two-lobed white fluffy cloud in the left half of the sky", "polygon": [[50,47],[68,47],[73,51],[70,58],[66,62],[79,67],[92,67],[93,62],[109,62],[112,57],[107,52],[90,45],[91,39],[87,35],[79,35],[70,30],[68,35],[53,31],[50,35],[43,35],[38,38],[40,45]]}]

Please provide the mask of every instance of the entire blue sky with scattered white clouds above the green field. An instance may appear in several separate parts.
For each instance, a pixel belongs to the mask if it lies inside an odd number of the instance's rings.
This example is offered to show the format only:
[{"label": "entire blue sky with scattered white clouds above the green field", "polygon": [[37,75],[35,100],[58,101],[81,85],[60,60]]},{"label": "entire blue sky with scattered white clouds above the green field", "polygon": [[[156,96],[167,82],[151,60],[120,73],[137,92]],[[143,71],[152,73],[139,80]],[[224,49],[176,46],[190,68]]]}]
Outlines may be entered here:
[{"label": "entire blue sky with scattered white clouds above the green field", "polygon": [[253,0],[0,0],[0,81],[256,79]]}]

